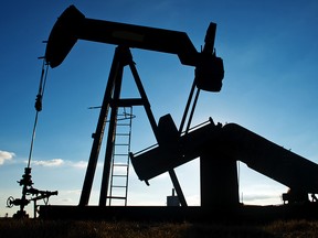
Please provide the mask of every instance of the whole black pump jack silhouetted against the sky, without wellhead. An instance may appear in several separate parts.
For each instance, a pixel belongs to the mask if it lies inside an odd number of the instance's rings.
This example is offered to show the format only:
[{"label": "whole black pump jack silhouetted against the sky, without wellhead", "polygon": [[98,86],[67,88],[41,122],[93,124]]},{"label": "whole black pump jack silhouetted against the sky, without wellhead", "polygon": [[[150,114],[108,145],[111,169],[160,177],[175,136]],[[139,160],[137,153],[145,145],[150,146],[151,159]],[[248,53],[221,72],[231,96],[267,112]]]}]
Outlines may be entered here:
[{"label": "whole black pump jack silhouetted against the sky, without wellhead", "polygon": [[[121,106],[145,107],[158,144],[149,150],[144,150],[135,154],[130,153],[130,159],[138,177],[147,184],[149,184],[148,181],[150,178],[169,172],[177,195],[183,207],[182,212],[178,208],[169,208],[170,212],[171,209],[178,209],[179,213],[192,210],[192,208],[186,208],[187,202],[173,169],[195,158],[200,158],[201,207],[204,208],[199,208],[197,218],[201,217],[206,210],[210,214],[211,209],[236,209],[240,207],[236,170],[237,160],[243,161],[253,170],[289,186],[296,192],[294,194],[300,194],[296,196],[296,198],[294,196],[293,201],[296,203],[307,202],[306,195],[308,197],[308,193],[311,193],[314,196],[318,193],[318,165],[261,136],[235,123],[225,126],[221,123],[215,125],[212,118],[210,118],[208,122],[190,129],[200,90],[218,93],[222,88],[224,68],[222,58],[216,57],[214,51],[215,30],[216,24],[210,23],[203,50],[198,52],[184,32],[87,19],[74,6],[67,8],[59,18],[50,34],[45,52],[45,60],[52,68],[59,66],[64,61],[77,40],[117,45],[97,128],[93,137],[94,141],[80,206],[76,208],[81,210],[81,213],[85,213],[86,217],[88,214],[91,214],[92,217],[94,213],[96,213],[96,210],[89,212],[87,205],[104,134],[105,121],[108,110],[112,108],[99,209],[103,209],[106,204],[109,164],[114,143],[113,136],[116,130],[115,118],[117,108]],[[150,102],[148,101],[135,63],[132,62],[129,50],[131,47],[176,54],[181,64],[195,67],[195,77],[179,130],[170,115],[161,117],[158,125],[156,123]],[[125,66],[129,66],[132,73],[140,98],[120,98],[121,77]],[[189,115],[194,90],[197,90],[197,93]],[[188,123],[186,131],[183,131],[187,118]],[[284,170],[282,170],[282,167],[284,167]],[[285,197],[288,196],[285,195]],[[292,202],[292,199],[289,202]],[[42,215],[51,213],[50,216],[56,217],[59,213],[65,212],[65,207],[55,207],[54,209],[55,212],[50,207],[43,207]],[[139,212],[141,210],[140,207],[138,209]],[[78,215],[78,210],[76,210],[75,214]],[[131,215],[129,214],[131,210],[136,213],[135,208],[128,209],[127,207],[127,210],[129,212],[125,213],[121,209],[120,213],[130,217]],[[155,213],[157,212],[158,210]],[[169,216],[171,216],[170,212]],[[113,213],[110,216],[115,216],[114,214],[116,214],[114,210],[108,210],[108,213]],[[153,215],[152,210],[146,213]]]}]

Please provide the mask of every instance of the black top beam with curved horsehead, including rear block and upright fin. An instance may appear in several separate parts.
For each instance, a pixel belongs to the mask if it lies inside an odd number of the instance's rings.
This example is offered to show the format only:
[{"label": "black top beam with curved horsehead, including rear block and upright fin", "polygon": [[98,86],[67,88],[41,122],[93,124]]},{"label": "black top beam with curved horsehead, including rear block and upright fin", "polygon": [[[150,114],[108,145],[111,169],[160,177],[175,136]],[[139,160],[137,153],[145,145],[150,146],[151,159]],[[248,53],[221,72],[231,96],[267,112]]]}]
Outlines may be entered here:
[{"label": "black top beam with curved horsehead, including rear block and upright fin", "polygon": [[177,54],[182,64],[197,67],[201,89],[220,91],[224,69],[214,52],[215,31],[216,24],[210,23],[203,52],[199,53],[184,32],[87,19],[71,6],[51,31],[45,60],[52,68],[59,66],[77,40]]}]

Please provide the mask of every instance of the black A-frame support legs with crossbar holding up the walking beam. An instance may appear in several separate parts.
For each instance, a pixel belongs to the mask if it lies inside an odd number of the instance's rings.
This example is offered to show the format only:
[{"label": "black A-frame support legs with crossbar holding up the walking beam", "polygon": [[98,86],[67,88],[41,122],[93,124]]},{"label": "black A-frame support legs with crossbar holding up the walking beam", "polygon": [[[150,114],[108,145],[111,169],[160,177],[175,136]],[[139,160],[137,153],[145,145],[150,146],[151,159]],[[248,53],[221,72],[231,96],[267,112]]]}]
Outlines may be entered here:
[{"label": "black A-frame support legs with crossbar holding up the walking beam", "polygon": [[[140,98],[135,99],[120,99],[120,90],[121,90],[121,82],[123,82],[123,73],[124,67],[129,65],[129,68],[132,73],[135,83],[140,94]],[[119,106],[144,106],[147,117],[149,119],[150,126],[153,130],[155,137],[158,140],[158,126],[156,123],[155,117],[152,115],[150,104],[148,101],[146,91],[141,84],[140,77],[138,75],[137,68],[132,61],[132,55],[130,53],[129,47],[126,46],[117,46],[115,51],[115,55],[113,58],[108,82],[99,112],[99,118],[96,127],[96,131],[93,134],[93,145],[91,150],[89,161],[86,170],[86,175],[84,178],[83,190],[80,198],[80,206],[88,205],[91,191],[93,186],[94,175],[97,166],[98,155],[102,147],[103,136],[105,131],[105,125],[109,111],[110,119],[108,126],[108,136],[106,143],[106,153],[105,153],[105,162],[103,170],[103,178],[100,186],[100,195],[99,195],[99,206],[106,206],[108,184],[109,184],[109,175],[110,175],[110,166],[112,166],[112,155],[114,150],[114,134],[116,131],[116,117],[117,117],[117,108]],[[179,196],[180,203],[183,206],[187,206],[187,202],[184,199],[183,193],[181,191],[180,184],[177,180],[176,173],[173,170],[169,171],[170,177],[172,180],[173,186]]]}]

